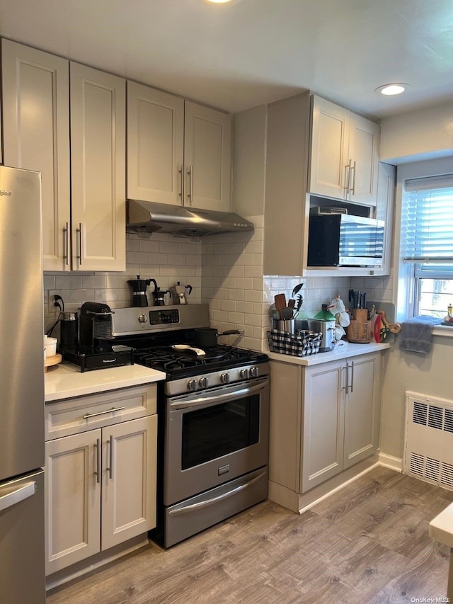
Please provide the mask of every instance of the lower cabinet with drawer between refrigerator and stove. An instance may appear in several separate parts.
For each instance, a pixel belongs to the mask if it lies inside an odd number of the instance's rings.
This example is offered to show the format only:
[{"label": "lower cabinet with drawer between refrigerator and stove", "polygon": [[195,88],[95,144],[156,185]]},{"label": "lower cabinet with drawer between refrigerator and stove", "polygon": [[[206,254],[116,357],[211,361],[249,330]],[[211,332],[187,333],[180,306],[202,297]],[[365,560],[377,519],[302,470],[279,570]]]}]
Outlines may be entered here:
[{"label": "lower cabinet with drawer between refrigerator and stove", "polygon": [[[103,393],[46,406],[54,427],[60,418],[62,433],[76,426],[77,414],[91,416],[84,420],[81,433],[47,440],[45,445],[47,576],[156,526],[154,389],[130,389],[129,409],[124,404],[127,391],[117,391],[121,394],[110,399]],[[139,414],[140,399],[145,412],[154,413],[125,421],[125,416]],[[81,404],[84,400],[86,406]],[[76,415],[71,414],[71,405]],[[112,411],[120,406],[121,411]],[[90,429],[95,427],[90,421],[108,425]]]}]

